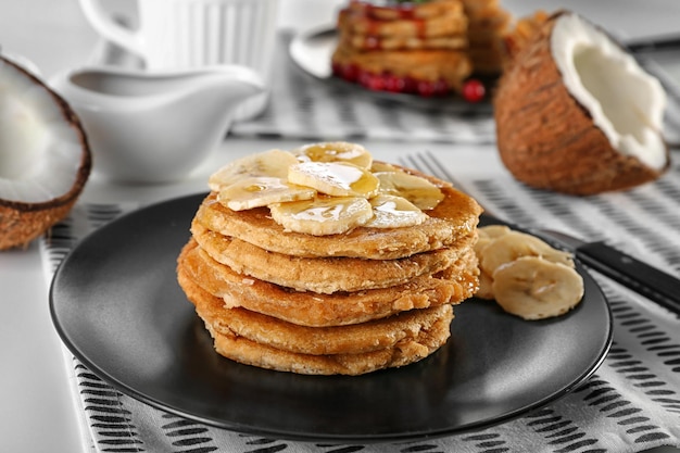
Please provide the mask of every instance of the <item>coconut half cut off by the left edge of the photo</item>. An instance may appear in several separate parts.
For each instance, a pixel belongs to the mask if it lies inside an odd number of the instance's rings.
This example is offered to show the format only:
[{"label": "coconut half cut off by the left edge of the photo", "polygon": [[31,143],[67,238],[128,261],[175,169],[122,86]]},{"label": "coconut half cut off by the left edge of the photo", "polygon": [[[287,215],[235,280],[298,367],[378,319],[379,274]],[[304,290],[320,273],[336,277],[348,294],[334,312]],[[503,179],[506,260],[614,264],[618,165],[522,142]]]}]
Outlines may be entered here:
[{"label": "coconut half cut off by the left edge of the photo", "polygon": [[25,247],[61,221],[90,169],[87,138],[68,104],[0,55],[0,250]]}]

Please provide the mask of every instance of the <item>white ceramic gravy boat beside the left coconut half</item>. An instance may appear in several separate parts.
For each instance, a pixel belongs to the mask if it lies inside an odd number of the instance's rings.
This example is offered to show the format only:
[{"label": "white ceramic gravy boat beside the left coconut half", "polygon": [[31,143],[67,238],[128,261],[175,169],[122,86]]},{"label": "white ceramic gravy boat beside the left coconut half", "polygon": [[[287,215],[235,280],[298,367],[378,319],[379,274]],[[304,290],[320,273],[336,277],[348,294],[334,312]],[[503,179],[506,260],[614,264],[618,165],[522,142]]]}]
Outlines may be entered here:
[{"label": "white ceramic gravy boat beside the left coconut half", "polygon": [[236,108],[265,91],[257,73],[240,65],[84,67],[51,85],[83,123],[93,171],[125,183],[181,179],[225,139]]}]

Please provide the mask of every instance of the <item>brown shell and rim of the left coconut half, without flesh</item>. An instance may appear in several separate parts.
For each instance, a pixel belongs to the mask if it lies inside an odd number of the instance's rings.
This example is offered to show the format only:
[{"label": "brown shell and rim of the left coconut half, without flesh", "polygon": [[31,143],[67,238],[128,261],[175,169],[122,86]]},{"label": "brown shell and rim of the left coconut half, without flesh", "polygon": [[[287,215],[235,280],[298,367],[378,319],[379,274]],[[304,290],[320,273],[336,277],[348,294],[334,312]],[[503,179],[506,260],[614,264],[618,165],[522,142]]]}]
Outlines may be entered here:
[{"label": "brown shell and rim of the left coconut half, without flesh", "polygon": [[67,192],[51,200],[27,203],[0,198],[0,250],[27,244],[47,231],[52,225],[63,219],[83,192],[92,167],[92,155],[85,129],[76,113],[56,92],[47,87],[39,78],[16,63],[0,56],[0,60],[15,67],[34,84],[45,89],[63,114],[64,122],[77,133],[80,142],[80,158],[76,179]]}]

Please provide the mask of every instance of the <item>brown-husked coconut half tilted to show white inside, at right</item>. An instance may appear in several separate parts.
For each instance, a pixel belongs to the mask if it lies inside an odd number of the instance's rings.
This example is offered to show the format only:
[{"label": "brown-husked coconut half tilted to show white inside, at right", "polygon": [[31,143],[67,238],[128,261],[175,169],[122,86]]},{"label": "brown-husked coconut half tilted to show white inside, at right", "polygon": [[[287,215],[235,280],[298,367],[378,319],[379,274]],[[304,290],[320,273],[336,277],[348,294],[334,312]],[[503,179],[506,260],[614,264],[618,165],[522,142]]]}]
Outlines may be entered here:
[{"label": "brown-husked coconut half tilted to show white inside, at right", "polygon": [[509,62],[494,97],[501,159],[525,184],[571,194],[660,176],[666,93],[621,46],[583,17],[550,16]]}]

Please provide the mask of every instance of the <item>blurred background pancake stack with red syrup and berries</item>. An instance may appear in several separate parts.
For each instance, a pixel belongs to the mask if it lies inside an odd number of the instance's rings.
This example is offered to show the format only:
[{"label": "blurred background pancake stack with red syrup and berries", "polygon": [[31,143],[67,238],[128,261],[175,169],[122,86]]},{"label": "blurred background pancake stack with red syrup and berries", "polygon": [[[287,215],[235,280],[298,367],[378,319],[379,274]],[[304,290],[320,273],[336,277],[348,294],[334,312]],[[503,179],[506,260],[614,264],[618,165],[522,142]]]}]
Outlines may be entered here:
[{"label": "blurred background pancake stack with red syrup and berries", "polygon": [[[338,15],[333,72],[375,89],[420,92],[420,86],[437,95],[457,91],[473,70],[467,27],[459,0],[385,5],[351,0]],[[403,84],[372,86],[381,77]]]}]

